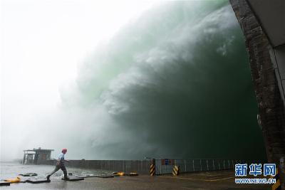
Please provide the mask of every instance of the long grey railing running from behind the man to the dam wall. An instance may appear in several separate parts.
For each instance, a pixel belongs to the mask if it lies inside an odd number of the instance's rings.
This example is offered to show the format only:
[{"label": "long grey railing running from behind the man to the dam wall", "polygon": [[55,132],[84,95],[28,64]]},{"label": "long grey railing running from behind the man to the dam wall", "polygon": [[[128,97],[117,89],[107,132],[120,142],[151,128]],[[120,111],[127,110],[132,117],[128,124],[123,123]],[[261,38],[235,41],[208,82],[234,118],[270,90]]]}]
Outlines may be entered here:
[{"label": "long grey railing running from behind the man to the dam wall", "polygon": [[[167,161],[167,162],[166,162]],[[219,171],[234,169],[235,164],[264,164],[265,161],[246,161],[237,159],[155,159],[155,174],[171,174],[173,166],[180,167],[180,173],[195,171]],[[49,159],[39,164],[55,165],[56,160]],[[71,160],[67,167],[83,169],[103,169],[109,171],[137,171],[150,174],[150,159],[144,160]]]}]

